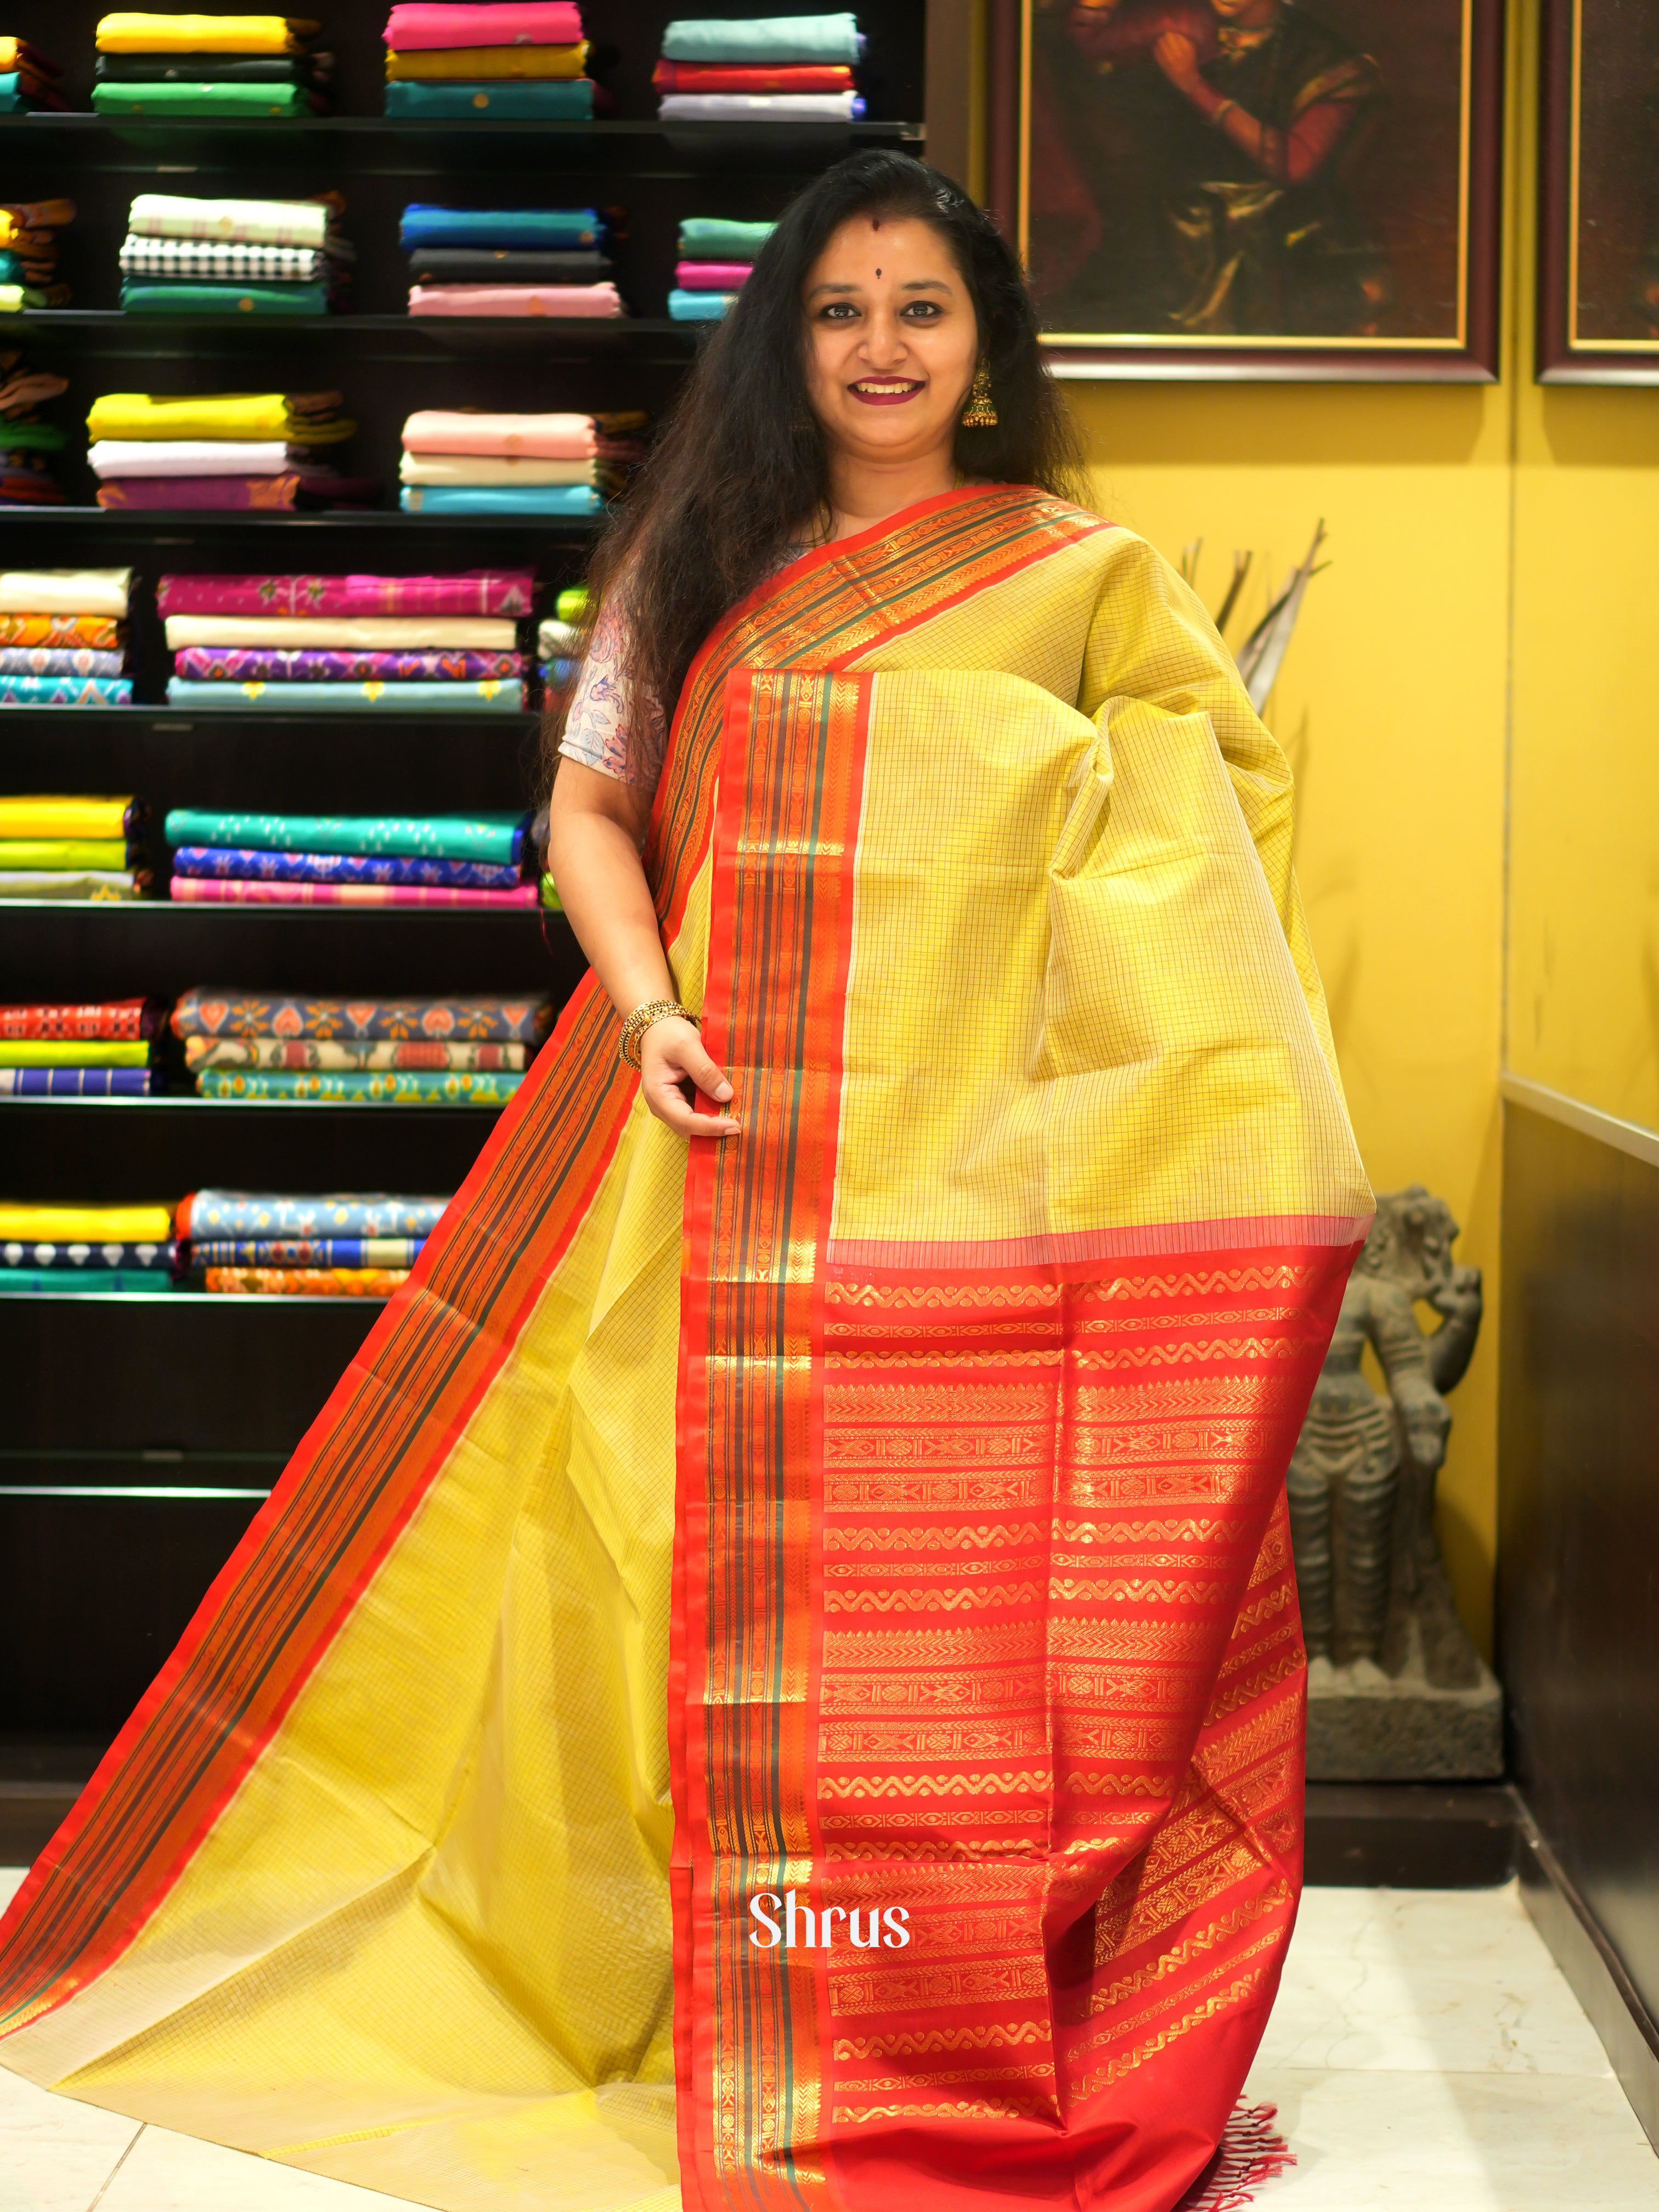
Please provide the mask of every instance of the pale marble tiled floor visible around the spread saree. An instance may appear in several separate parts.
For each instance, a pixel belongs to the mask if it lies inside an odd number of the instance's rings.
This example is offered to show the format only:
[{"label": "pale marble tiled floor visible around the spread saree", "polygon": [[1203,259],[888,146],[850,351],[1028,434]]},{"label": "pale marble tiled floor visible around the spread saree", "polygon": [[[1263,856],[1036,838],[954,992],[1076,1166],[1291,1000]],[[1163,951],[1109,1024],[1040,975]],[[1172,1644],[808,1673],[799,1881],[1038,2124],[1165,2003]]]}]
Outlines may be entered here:
[{"label": "pale marble tiled floor visible around the spread saree", "polygon": [[[1513,1885],[1310,1889],[1250,2095],[1298,2159],[1259,2212],[1659,2212],[1659,2159]],[[0,2070],[0,2212],[403,2205]]]}]

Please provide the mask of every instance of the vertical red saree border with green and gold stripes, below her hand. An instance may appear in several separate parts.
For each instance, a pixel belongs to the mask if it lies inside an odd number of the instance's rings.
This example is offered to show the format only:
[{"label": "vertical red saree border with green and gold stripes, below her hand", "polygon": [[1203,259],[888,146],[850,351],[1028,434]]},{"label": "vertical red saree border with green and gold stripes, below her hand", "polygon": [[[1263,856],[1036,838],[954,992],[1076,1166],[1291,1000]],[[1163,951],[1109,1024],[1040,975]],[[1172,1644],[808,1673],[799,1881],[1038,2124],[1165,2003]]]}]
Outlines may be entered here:
[{"label": "vertical red saree border with green and gold stripes, below her hand", "polygon": [[759,670],[726,697],[703,1035],[743,1133],[695,1141],[686,1181],[672,1621],[677,2110],[695,2212],[832,2203],[812,2154],[823,1991],[810,1960],[745,1936],[748,1896],[787,1889],[821,1854],[807,1562],[823,1272],[805,1252],[834,1194],[869,692],[869,677]]}]

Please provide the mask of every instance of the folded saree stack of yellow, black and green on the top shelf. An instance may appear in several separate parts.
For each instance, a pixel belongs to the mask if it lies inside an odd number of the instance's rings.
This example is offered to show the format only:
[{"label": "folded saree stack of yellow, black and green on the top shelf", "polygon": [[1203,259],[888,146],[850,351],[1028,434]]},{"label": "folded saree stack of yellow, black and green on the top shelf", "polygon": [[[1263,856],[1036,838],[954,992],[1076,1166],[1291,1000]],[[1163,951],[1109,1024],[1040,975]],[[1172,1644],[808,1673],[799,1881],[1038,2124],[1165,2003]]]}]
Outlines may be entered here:
[{"label": "folded saree stack of yellow, black and green on the top shelf", "polygon": [[250,122],[321,115],[330,58],[296,15],[104,15],[97,24],[100,115],[208,115]]}]

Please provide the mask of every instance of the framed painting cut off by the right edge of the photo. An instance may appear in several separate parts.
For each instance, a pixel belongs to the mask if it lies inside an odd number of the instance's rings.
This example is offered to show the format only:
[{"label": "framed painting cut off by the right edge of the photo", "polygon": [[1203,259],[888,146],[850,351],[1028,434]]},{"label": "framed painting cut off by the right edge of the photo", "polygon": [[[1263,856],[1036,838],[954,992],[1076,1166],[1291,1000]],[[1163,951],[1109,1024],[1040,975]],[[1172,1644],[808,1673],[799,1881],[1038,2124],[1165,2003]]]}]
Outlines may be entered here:
[{"label": "framed painting cut off by the right edge of the photo", "polygon": [[1537,376],[1659,383],[1659,0],[1546,0]]}]

